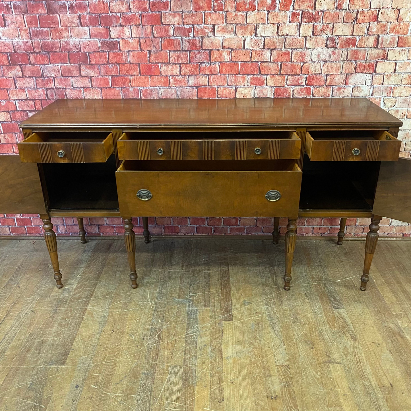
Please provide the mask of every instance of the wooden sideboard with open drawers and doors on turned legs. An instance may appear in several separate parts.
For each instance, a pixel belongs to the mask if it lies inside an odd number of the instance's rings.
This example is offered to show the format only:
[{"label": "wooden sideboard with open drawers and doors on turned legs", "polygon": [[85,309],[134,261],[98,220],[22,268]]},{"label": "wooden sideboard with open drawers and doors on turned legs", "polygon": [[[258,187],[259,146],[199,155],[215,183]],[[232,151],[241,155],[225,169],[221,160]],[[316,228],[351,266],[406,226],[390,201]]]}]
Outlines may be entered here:
[{"label": "wooden sideboard with open drawers and doors on turned legs", "polygon": [[[19,156],[0,157],[0,212],[39,213],[57,287],[51,217],[121,216],[137,287],[133,216],[288,217],[284,289],[297,218],[369,217],[365,290],[381,216],[411,222],[402,122],[365,98],[71,99],[21,122]],[[143,217],[149,242],[148,217]]]}]

